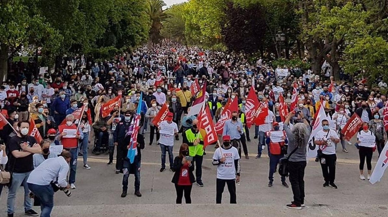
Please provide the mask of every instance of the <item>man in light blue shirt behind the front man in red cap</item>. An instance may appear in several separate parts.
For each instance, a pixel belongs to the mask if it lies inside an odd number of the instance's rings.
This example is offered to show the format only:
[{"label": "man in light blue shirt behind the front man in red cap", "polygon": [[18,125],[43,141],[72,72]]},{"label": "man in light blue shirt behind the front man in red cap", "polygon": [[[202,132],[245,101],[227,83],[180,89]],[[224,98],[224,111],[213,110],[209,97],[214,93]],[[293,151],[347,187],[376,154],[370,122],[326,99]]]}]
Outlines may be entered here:
[{"label": "man in light blue shirt behind the front man in red cap", "polygon": [[232,112],[232,120],[227,120],[225,125],[223,126],[222,135],[229,135],[230,142],[234,147],[236,147],[239,151],[239,156],[241,157],[241,146],[240,139],[241,135],[244,133],[242,131],[242,123],[238,120],[237,111]]}]

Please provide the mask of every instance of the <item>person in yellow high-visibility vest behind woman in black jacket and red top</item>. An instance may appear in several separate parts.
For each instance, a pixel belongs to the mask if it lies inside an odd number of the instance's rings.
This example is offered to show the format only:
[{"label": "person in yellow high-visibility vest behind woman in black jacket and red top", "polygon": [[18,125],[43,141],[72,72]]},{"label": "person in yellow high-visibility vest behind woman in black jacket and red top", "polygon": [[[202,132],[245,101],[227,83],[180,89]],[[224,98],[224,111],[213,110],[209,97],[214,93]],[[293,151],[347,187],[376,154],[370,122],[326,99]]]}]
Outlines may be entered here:
[{"label": "person in yellow high-visibility vest behind woman in black jacket and red top", "polygon": [[193,120],[192,128],[185,131],[185,137],[183,137],[183,143],[189,145],[189,156],[193,157],[195,161],[195,174],[197,185],[203,187],[202,183],[202,161],[203,161],[203,138],[204,134],[202,130],[198,129],[198,120]]}]

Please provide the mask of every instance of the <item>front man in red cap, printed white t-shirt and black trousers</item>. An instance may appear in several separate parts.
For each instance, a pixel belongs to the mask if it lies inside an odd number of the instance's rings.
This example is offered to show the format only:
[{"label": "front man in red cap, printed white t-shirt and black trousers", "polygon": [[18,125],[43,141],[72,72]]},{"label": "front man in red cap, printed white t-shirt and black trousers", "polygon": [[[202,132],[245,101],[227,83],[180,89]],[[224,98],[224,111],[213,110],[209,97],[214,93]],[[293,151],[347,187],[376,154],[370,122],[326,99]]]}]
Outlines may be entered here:
[{"label": "front man in red cap, printed white t-shirt and black trousers", "polygon": [[[225,183],[230,194],[230,203],[236,203],[236,183],[240,183],[240,157],[237,148],[230,144],[230,136],[222,137],[223,145],[213,155],[213,165],[217,165],[216,203],[221,203]],[[235,182],[236,181],[236,182]]]}]

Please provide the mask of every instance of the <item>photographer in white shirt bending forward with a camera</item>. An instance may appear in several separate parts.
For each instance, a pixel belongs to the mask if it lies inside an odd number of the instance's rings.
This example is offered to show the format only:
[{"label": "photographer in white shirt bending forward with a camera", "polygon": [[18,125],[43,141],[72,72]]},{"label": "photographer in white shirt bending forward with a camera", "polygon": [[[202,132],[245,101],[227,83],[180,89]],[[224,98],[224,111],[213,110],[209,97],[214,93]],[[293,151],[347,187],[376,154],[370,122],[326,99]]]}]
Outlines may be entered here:
[{"label": "photographer in white shirt bending forward with a camera", "polygon": [[70,160],[70,152],[62,151],[58,158],[48,158],[29,175],[27,180],[29,190],[41,201],[41,217],[50,217],[54,207],[54,189],[51,183],[58,180],[60,189],[70,188],[66,182]]}]

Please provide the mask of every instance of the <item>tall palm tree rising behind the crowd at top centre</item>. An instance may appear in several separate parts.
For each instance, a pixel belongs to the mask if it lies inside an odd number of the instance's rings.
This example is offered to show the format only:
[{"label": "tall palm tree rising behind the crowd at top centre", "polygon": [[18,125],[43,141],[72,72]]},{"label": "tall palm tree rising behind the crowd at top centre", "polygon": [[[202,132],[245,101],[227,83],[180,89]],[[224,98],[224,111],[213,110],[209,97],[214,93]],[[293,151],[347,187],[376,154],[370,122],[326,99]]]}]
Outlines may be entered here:
[{"label": "tall palm tree rising behind the crowd at top centre", "polygon": [[163,10],[166,3],[163,0],[149,0],[149,7],[147,13],[151,19],[151,29],[149,30],[148,43],[158,43],[161,36],[160,30],[162,28],[162,22],[169,16]]}]

